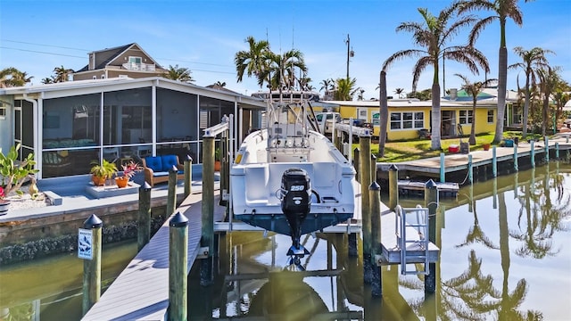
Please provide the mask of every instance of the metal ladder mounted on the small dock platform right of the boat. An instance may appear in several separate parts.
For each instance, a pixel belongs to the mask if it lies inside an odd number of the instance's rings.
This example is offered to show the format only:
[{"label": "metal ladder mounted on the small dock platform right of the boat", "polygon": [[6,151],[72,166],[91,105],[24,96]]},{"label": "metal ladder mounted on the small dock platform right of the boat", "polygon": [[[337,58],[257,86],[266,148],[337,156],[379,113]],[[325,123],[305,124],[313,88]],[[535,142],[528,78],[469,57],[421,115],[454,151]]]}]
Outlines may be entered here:
[{"label": "metal ladder mounted on the small dock platform right of the boat", "polygon": [[[395,219],[394,232],[397,244],[401,249],[401,275],[427,275],[428,270],[428,209],[417,205],[416,208],[405,208],[397,205],[395,208],[397,218]],[[415,237],[407,235],[407,228],[412,227],[417,231]],[[409,228],[410,230],[410,228]],[[409,231],[410,234],[410,231]],[[409,236],[409,237],[407,237]],[[407,247],[414,245],[414,251],[422,251],[422,254],[407,254]],[[412,248],[412,246],[410,246]],[[411,251],[409,249],[409,251]],[[407,269],[407,262],[418,263],[424,260],[424,269]]]}]

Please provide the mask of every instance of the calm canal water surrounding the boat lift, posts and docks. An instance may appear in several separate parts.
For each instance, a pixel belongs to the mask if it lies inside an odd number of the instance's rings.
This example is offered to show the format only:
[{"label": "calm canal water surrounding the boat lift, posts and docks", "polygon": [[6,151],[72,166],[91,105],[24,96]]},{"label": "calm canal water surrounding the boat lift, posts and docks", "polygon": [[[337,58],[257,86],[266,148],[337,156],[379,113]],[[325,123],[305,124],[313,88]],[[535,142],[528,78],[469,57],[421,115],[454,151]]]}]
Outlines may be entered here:
[{"label": "calm canal water surrounding the boat lift, posts and docks", "polygon": [[[395,265],[381,268],[384,295],[372,298],[347,235],[305,235],[310,255],[300,273],[287,265],[289,237],[234,232],[219,240],[211,286],[191,271],[189,319],[571,319],[570,165],[465,186],[440,205],[434,294],[425,294],[424,276],[401,276]],[[136,243],[104,248],[103,279],[111,282],[136,251]],[[79,319],[82,268],[71,254],[0,267],[0,319]]]}]

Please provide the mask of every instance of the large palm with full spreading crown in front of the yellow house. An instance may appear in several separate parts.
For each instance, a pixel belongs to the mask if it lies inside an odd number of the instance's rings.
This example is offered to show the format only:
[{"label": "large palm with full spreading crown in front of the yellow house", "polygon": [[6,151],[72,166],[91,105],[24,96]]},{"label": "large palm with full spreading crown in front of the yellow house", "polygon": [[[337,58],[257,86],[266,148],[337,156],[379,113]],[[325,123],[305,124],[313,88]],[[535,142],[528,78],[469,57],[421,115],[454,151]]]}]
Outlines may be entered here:
[{"label": "large palm with full spreading crown in front of the yellow house", "polygon": [[[451,21],[456,12],[456,4],[444,8],[440,14],[435,17],[426,8],[418,8],[418,12],[423,18],[422,23],[418,22],[402,22],[396,29],[399,31],[408,31],[413,34],[413,43],[422,47],[422,49],[406,49],[397,53],[393,53],[383,63],[382,70],[387,70],[393,62],[405,57],[419,57],[412,78],[412,91],[415,92],[418,85],[418,78],[426,67],[434,67],[434,78],[432,85],[432,135],[431,149],[440,150],[440,84],[439,69],[440,58],[461,62],[465,64],[470,71],[478,74],[477,65],[484,68],[486,72],[490,69],[488,62],[483,53],[471,45],[445,45],[451,41],[451,38],[459,32],[459,29],[471,25],[476,18],[474,16],[460,17],[458,21]],[[385,121],[386,119],[381,119]]]}]

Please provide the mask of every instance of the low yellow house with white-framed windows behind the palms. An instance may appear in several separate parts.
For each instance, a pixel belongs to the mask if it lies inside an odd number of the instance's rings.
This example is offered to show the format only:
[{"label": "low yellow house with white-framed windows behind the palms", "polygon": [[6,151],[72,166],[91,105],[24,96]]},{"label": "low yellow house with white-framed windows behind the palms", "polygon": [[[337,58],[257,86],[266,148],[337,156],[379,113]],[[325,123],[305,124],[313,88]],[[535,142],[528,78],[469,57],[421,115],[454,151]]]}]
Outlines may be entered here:
[{"label": "low yellow house with white-framed windows behind the palms", "polygon": [[[335,104],[335,111],[343,119],[364,119],[373,124],[373,136],[379,133],[378,101],[327,101]],[[418,138],[421,133],[431,132],[432,102],[418,99],[397,99],[388,101],[387,140],[407,140]],[[476,134],[488,133],[495,129],[497,107],[495,99],[478,101],[476,115],[472,102],[441,101],[441,136],[468,136],[476,119]]]}]

